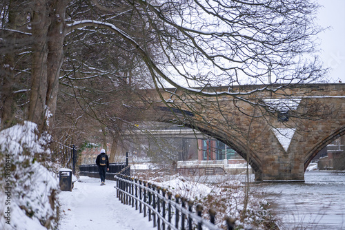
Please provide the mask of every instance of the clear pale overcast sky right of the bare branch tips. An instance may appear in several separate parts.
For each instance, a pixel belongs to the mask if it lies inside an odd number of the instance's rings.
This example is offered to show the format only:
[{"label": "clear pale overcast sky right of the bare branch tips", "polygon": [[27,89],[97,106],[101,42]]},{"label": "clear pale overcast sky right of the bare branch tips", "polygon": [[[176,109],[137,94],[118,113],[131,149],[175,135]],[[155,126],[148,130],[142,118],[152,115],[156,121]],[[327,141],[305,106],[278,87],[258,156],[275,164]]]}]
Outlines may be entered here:
[{"label": "clear pale overcast sky right of the bare branch tips", "polygon": [[319,34],[322,39],[321,58],[329,72],[331,83],[345,83],[345,0],[318,0],[324,6],[319,10],[319,25],[329,30]]}]

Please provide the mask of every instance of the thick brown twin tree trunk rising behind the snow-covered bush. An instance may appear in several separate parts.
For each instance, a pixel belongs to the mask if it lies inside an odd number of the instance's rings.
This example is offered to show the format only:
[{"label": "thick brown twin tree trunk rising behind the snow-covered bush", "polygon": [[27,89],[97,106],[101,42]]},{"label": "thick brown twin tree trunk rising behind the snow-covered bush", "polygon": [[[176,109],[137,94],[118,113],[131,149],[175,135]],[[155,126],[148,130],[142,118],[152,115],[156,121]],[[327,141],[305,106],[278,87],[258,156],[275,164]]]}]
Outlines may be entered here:
[{"label": "thick brown twin tree trunk rising behind the snow-covered bush", "polygon": [[[67,0],[37,0],[32,13],[32,83],[28,120],[46,129],[49,109],[54,117],[59,75],[63,62],[63,39]],[[49,8],[48,8],[49,7]]]}]

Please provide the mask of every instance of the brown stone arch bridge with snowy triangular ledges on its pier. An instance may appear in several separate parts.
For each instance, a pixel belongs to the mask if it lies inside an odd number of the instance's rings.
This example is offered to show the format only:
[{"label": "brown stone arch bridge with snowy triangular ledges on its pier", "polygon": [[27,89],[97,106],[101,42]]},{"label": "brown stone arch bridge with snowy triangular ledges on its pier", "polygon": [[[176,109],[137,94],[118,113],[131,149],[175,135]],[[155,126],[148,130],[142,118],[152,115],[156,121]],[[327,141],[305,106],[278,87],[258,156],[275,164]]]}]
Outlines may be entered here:
[{"label": "brown stone arch bridge with snowy triangular ledges on its pier", "polygon": [[[234,87],[232,92],[242,93],[208,98],[175,89],[162,91],[161,96],[147,90],[150,108],[141,114],[150,121],[181,123],[221,140],[248,161],[255,180],[304,181],[313,157],[345,134],[345,84],[257,90],[262,87]],[[230,92],[226,87],[206,90]]]}]

